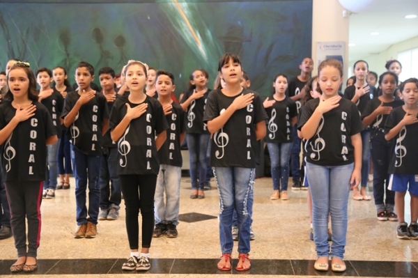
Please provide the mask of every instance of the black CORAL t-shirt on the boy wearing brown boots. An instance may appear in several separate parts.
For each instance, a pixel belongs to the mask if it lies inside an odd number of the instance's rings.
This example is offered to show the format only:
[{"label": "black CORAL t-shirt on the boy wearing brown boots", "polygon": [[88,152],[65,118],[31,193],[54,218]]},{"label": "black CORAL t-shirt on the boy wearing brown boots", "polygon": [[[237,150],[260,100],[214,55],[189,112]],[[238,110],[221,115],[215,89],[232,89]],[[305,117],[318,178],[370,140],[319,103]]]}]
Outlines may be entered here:
[{"label": "black CORAL t-shirt on the boy wearing brown boots", "polygon": [[[67,94],[62,118],[70,113],[79,98],[77,91]],[[86,155],[102,155],[102,126],[105,118],[109,118],[107,101],[102,93],[96,91],[95,97],[79,109],[75,121],[67,130],[72,145]]]}]

